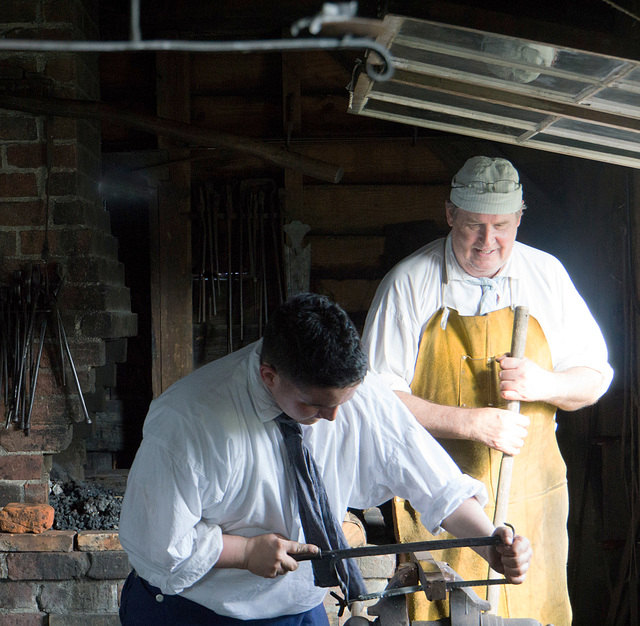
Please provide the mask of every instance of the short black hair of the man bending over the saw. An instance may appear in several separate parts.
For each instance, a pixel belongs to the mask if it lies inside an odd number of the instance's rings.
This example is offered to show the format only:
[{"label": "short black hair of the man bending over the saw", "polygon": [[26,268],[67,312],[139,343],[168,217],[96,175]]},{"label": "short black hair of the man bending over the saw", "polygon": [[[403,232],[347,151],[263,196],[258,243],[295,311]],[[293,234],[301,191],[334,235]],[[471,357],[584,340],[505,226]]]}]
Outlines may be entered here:
[{"label": "short black hair of the man bending over the saw", "polygon": [[325,296],[302,293],[269,318],[262,363],[299,387],[344,389],[360,382],[367,359],[345,311]]}]

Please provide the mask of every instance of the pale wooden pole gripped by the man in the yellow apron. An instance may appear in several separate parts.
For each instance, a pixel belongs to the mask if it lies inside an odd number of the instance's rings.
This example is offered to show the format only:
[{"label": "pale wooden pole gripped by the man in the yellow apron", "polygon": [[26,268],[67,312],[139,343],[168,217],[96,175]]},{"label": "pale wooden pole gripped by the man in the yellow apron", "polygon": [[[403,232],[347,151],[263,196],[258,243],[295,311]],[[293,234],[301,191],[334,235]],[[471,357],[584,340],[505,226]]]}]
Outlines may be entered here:
[{"label": "pale wooden pole gripped by the man in the yellow apron", "polygon": [[[527,329],[529,327],[529,309],[525,306],[517,306],[513,316],[513,334],[511,335],[510,355],[516,359],[524,356],[524,348],[527,343]],[[509,400],[507,410],[514,413],[520,412],[520,402]],[[493,515],[494,525],[503,524],[507,518],[509,509],[509,491],[511,489],[511,474],[513,473],[513,457],[510,454],[502,455],[500,461],[500,475],[498,477],[498,488],[496,492],[496,508]],[[499,576],[489,568],[489,578]],[[490,587],[487,600],[491,603],[491,613],[497,613],[498,600],[500,597],[499,587]]]}]

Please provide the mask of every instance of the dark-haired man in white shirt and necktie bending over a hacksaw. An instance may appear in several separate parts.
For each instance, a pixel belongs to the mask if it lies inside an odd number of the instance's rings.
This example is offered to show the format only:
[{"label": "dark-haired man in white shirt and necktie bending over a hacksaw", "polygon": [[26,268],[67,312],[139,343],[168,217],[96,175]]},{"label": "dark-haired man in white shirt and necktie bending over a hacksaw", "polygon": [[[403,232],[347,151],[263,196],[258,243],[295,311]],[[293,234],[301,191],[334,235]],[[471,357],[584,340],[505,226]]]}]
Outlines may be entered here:
[{"label": "dark-haired man in white shirt and necktie bending over a hacksaw", "polygon": [[[120,541],[135,572],[122,593],[133,624],[328,624],[314,585],[278,420],[300,425],[335,518],[394,494],[434,532],[498,533],[479,553],[514,583],[529,542],[495,529],[481,483],[462,474],[375,374],[353,324],[302,294],[262,342],[214,361],[155,400],[129,474]],[[244,621],[242,621],[244,620]]]}]

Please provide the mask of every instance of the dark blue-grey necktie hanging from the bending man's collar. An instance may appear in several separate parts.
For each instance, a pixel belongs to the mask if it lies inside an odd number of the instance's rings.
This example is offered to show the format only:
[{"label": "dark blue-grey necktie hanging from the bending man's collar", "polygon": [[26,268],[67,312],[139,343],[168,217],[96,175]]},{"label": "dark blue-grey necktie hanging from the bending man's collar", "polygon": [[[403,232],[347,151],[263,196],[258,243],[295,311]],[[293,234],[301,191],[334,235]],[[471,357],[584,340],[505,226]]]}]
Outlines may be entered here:
[{"label": "dark blue-grey necktie hanging from the bending man's collar", "polygon": [[[307,543],[321,550],[342,550],[349,544],[333,512],[322,476],[302,439],[298,422],[282,413],[276,417],[295,475],[298,511]],[[362,574],[353,559],[335,562],[330,559],[312,561],[313,577],[317,587],[340,586],[347,602],[367,593]]]}]

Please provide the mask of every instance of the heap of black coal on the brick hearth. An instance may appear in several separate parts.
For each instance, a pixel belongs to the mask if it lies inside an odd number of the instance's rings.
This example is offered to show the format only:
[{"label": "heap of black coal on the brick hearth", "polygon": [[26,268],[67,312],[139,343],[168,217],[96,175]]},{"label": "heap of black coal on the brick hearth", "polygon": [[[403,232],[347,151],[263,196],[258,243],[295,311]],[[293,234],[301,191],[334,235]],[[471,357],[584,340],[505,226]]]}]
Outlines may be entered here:
[{"label": "heap of black coal on the brick hearth", "polygon": [[122,496],[81,481],[51,481],[49,504],[55,530],[117,530]]}]

